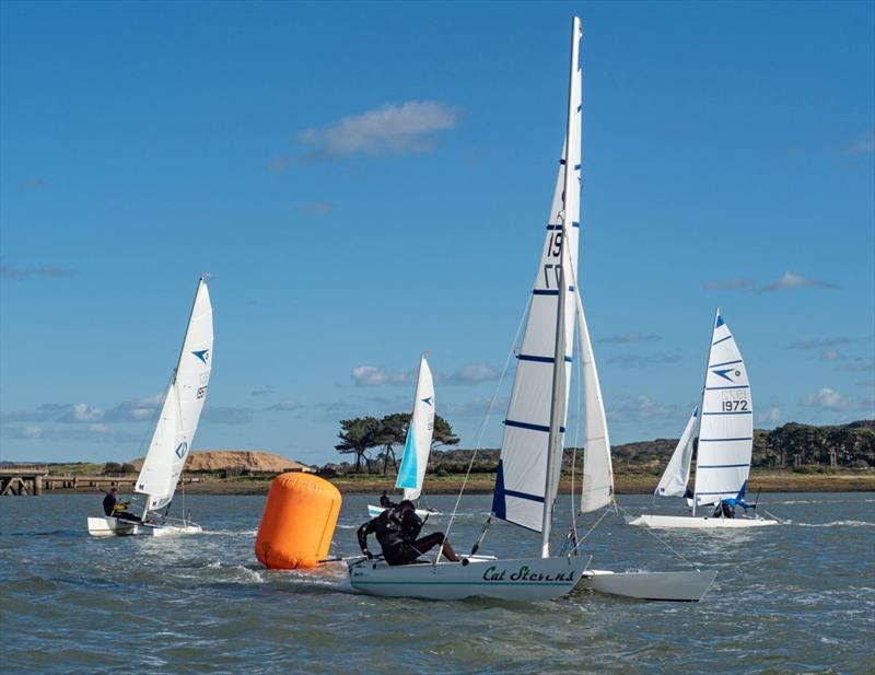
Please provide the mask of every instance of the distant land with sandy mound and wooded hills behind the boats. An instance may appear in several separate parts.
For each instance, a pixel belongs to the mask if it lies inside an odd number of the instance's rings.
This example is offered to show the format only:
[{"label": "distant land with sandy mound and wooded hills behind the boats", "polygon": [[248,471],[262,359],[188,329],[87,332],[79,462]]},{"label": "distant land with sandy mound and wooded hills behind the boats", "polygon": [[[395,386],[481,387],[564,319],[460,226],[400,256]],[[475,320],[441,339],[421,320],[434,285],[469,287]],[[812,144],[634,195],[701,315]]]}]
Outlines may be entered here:
[{"label": "distant land with sandy mound and wooded hills behind the boats", "polygon": [[[649,494],[658,481],[677,439],[657,439],[615,445],[611,450],[618,494]],[[315,472],[334,482],[343,492],[374,492],[392,489],[395,473],[388,472],[382,454],[370,457],[354,473],[349,463],[329,463],[307,467],[270,453],[221,451],[194,453],[207,459],[212,455],[233,455],[236,465],[214,466],[215,462],[195,462],[208,466],[186,470],[185,490],[190,494],[262,494],[275,476],[288,470]],[[192,455],[192,457],[194,457]],[[262,456],[264,455],[264,456]],[[458,491],[468,465],[470,450],[434,451],[428,472],[429,493]],[[466,490],[470,493],[491,492],[498,464],[498,450],[478,451],[471,465]],[[580,490],[583,452],[567,449],[563,457],[561,492],[572,490],[572,457],[576,455],[573,489]],[[259,459],[270,457],[273,465],[259,466]],[[277,464],[279,462],[279,464]],[[248,464],[247,464],[248,463]],[[288,467],[285,465],[289,465]],[[249,466],[250,465],[250,466]],[[14,468],[15,463],[0,463],[0,468]],[[130,470],[119,472],[122,465],[46,464],[44,493],[98,492],[110,485],[130,491],[137,478]],[[129,465],[124,465],[129,469]],[[861,420],[841,426],[816,427],[791,422],[771,431],[754,431],[754,458],[750,473],[751,489],[766,492],[832,492],[875,490],[875,420]],[[369,473],[370,469],[370,473]],[[63,474],[63,478],[59,475]]]}]

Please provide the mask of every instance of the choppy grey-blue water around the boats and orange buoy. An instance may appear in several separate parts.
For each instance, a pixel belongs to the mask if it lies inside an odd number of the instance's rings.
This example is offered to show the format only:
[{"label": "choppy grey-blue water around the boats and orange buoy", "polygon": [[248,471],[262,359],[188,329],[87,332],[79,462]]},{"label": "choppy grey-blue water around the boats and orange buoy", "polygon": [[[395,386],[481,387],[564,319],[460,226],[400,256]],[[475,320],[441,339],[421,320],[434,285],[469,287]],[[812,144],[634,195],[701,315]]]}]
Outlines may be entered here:
[{"label": "choppy grey-blue water around the boats and orange buoy", "polygon": [[[347,496],[335,551],[357,551],[362,496]],[[454,498],[431,505],[452,510]],[[621,497],[633,513],[646,497]],[[266,571],[253,544],[264,497],[188,497],[209,532],[89,537],[100,496],[0,499],[5,672],[34,673],[873,673],[875,494],[771,494],[788,525],[662,536],[720,570],[699,604],[594,594],[558,602],[386,600],[352,593],[342,568]],[[466,550],[490,498],[462,502]],[[663,512],[670,510],[668,507]],[[568,498],[558,520],[570,512]],[[582,529],[594,519],[584,519]],[[444,528],[446,519],[427,528]],[[483,552],[536,555],[537,537],[493,524]],[[609,515],[590,536],[596,567],[682,569]]]}]

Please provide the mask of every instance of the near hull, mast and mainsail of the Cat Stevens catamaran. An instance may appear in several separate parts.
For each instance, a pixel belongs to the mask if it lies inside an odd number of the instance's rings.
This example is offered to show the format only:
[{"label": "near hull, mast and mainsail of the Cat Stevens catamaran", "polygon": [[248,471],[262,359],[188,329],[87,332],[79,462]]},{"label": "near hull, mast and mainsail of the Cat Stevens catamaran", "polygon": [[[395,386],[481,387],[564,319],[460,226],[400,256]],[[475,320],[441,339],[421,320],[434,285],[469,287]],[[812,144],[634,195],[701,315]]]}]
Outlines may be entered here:
[{"label": "near hull, mast and mainsail of the Cat Stevens catamaran", "polygon": [[[560,597],[574,589],[588,560],[551,556],[550,531],[565,431],[574,294],[563,259],[578,257],[580,228],[581,24],[572,22],[565,144],[560,160],[527,323],[514,379],[492,511],[497,517],[541,534],[539,557],[467,556],[450,562],[389,567],[384,561],[349,565],[350,583],[364,593],[433,600],[483,596],[506,601]],[[564,255],[563,255],[564,252]]]}]

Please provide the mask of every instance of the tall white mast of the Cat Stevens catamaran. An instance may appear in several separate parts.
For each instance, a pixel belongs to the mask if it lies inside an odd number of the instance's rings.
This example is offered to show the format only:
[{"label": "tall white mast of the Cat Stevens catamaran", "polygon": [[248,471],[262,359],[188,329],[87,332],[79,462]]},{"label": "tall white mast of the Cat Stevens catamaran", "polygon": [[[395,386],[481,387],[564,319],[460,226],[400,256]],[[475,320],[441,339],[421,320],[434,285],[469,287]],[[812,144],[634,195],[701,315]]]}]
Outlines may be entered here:
[{"label": "tall white mast of the Cat Stevens catamaran", "polygon": [[557,463],[562,461],[562,418],[565,411],[565,296],[568,281],[565,278],[565,241],[570,225],[568,218],[568,203],[574,182],[574,162],[571,155],[571,143],[579,142],[573,138],[574,116],[574,77],[578,72],[579,39],[581,36],[581,20],[574,16],[571,20],[571,62],[568,75],[568,116],[565,117],[565,171],[562,187],[562,244],[559,265],[559,294],[557,295],[556,344],[553,351],[553,382],[550,398],[550,432],[547,442],[547,476],[544,490],[544,521],[541,526],[541,558],[550,557],[550,527],[553,515],[553,501],[556,489],[553,474]]}]

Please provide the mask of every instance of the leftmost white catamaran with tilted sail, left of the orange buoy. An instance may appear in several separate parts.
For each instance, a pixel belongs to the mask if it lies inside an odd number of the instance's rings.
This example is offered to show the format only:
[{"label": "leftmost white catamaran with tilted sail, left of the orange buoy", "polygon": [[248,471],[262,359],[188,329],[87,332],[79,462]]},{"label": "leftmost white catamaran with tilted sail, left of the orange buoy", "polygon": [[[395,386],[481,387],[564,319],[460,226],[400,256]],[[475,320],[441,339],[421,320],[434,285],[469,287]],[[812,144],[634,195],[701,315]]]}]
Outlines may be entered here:
[{"label": "leftmost white catamaran with tilted sail, left of the orange buoy", "polygon": [[[166,511],[176,492],[207,398],[212,342],[212,305],[206,279],[201,277],[176,370],[135,486],[135,492],[143,496],[141,522],[115,516],[89,517],[89,534],[160,536],[201,532],[200,525],[185,516],[183,520],[166,517]],[[164,514],[160,512],[162,509]]]}]

